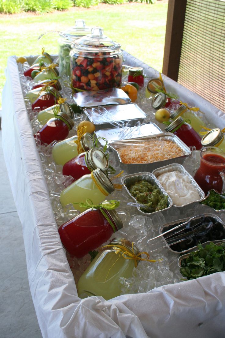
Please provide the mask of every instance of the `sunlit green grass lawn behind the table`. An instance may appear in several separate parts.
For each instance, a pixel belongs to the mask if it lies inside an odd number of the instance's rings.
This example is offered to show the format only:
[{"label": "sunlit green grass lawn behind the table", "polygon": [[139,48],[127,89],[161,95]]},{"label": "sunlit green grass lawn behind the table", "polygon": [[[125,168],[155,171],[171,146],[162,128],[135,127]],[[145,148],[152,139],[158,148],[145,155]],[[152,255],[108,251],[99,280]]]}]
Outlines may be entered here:
[{"label": "sunlit green grass lawn behind the table", "polygon": [[1,15],[0,96],[7,57],[39,54],[42,47],[50,54],[57,53],[56,33],[46,34],[37,41],[38,36],[47,30],[63,31],[73,26],[76,19],[84,19],[89,26],[103,27],[105,34],[120,42],[124,50],[162,71],[167,6],[166,1],[156,1],[153,5],[131,2],[92,8],[72,7],[68,11],[44,15]]}]

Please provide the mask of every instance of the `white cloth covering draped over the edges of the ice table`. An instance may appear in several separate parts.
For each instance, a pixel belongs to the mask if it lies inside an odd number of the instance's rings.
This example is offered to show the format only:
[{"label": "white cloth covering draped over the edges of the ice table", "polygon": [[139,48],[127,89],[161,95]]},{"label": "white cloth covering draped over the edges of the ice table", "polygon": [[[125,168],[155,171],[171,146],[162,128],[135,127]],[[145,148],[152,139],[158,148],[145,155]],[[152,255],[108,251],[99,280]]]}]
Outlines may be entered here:
[{"label": "white cloth covering draped over the edges of the ice table", "polygon": [[[156,71],[124,52],[125,63]],[[62,247],[49,192],[27,115],[16,63],[8,58],[2,100],[3,150],[23,226],[30,291],[44,338],[222,338],[225,272],[166,285],[145,294],[81,300]],[[168,91],[200,107],[225,127],[225,115],[197,94],[164,77]]]}]

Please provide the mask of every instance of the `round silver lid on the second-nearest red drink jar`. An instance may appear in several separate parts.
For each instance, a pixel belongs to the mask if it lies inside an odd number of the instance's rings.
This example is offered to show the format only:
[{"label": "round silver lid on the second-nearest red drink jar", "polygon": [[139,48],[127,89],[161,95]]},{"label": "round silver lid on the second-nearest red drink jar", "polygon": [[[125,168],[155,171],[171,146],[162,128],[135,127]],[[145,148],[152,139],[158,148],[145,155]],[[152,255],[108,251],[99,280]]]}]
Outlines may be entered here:
[{"label": "round silver lid on the second-nearest red drink jar", "polygon": [[107,156],[104,151],[99,148],[92,148],[88,150],[85,154],[85,161],[91,170],[100,168],[103,171],[106,171],[109,168]]}]

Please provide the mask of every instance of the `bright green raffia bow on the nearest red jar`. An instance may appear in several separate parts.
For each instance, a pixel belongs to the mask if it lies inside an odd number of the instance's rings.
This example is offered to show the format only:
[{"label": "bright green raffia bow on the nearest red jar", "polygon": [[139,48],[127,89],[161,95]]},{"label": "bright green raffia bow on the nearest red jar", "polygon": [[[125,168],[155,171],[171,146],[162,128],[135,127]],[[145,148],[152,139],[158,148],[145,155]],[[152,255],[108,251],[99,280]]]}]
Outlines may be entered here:
[{"label": "bright green raffia bow on the nearest red jar", "polygon": [[[91,202],[91,204],[89,203],[89,201]],[[74,202],[74,204],[79,204],[79,206],[81,208],[85,208],[85,209],[99,209],[101,211],[101,213],[103,214],[103,216],[107,219],[107,221],[109,222],[109,224],[111,225],[111,227],[113,228],[113,232],[116,232],[117,229],[115,227],[115,225],[113,224],[112,220],[109,218],[109,216],[107,215],[107,213],[105,212],[104,209],[106,210],[114,210],[116,208],[118,208],[119,206],[119,201],[116,201],[115,199],[111,199],[110,201],[104,201],[102,203],[93,205],[93,202],[90,198],[86,199],[86,202]]]}]

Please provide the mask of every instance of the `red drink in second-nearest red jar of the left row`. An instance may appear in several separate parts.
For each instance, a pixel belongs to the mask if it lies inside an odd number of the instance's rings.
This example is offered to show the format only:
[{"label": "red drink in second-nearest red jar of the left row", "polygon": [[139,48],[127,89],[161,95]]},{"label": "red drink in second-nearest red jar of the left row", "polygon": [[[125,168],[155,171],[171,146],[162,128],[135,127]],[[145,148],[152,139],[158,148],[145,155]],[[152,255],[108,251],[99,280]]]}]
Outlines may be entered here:
[{"label": "red drink in second-nearest red jar of the left row", "polygon": [[90,172],[85,161],[85,152],[66,162],[62,168],[63,175],[72,176],[75,179],[90,174]]}]

